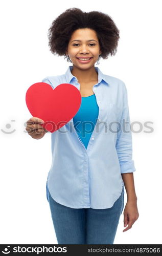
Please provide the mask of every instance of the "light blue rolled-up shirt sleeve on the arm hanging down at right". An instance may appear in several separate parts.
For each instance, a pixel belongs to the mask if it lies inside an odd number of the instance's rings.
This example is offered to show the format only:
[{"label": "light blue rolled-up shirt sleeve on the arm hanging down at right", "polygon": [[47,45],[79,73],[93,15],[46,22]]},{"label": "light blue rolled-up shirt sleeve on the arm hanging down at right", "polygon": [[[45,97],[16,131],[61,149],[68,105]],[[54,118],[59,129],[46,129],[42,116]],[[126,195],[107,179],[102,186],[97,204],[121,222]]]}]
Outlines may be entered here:
[{"label": "light blue rolled-up shirt sleeve on the arm hanging down at right", "polygon": [[125,83],[123,83],[123,111],[118,127],[116,150],[121,173],[133,173],[136,169],[134,167],[134,161],[132,160],[132,135]]}]

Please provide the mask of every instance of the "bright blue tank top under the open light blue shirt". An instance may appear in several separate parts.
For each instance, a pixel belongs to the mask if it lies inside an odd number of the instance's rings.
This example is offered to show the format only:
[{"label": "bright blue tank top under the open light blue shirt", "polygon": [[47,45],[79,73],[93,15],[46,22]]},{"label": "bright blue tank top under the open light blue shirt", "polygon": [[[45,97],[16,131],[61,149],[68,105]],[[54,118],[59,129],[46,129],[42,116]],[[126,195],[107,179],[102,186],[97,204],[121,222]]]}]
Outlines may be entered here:
[{"label": "bright blue tank top under the open light blue shirt", "polygon": [[75,130],[87,148],[89,139],[94,131],[99,115],[99,107],[95,94],[88,97],[82,97],[80,108],[73,117]]}]

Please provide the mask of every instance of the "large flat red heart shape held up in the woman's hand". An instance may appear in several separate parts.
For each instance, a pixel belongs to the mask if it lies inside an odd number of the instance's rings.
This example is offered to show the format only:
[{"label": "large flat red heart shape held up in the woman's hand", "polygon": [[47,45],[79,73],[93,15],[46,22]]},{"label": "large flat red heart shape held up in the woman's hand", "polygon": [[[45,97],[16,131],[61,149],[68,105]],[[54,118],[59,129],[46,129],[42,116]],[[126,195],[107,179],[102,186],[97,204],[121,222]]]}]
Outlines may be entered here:
[{"label": "large flat red heart shape held up in the woman's hand", "polygon": [[37,82],[27,90],[26,104],[32,116],[44,120],[42,127],[53,133],[76,115],[81,94],[70,83],[61,83],[53,89],[48,83]]}]

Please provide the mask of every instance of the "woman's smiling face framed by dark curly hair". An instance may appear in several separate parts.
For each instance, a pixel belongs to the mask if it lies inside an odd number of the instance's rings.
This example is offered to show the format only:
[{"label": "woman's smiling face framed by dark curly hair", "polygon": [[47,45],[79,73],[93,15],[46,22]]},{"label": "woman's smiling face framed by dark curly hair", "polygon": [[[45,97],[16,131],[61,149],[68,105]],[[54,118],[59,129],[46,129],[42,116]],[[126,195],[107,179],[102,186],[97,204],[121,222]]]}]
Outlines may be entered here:
[{"label": "woman's smiling face framed by dark curly hair", "polygon": [[74,31],[68,42],[66,54],[76,68],[85,70],[94,67],[101,54],[96,31],[88,28]]}]

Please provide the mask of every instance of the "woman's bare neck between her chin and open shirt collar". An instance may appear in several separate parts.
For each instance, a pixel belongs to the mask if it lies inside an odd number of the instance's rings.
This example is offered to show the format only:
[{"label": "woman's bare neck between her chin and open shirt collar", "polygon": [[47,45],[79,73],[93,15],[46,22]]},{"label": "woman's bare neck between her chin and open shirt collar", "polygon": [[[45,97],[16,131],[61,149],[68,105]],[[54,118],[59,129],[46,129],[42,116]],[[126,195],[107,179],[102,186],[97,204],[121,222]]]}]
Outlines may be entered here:
[{"label": "woman's bare neck between her chin and open shirt collar", "polygon": [[87,70],[81,70],[81,69],[78,69],[75,66],[73,66],[71,73],[75,77],[77,77],[78,82],[88,83],[91,81],[98,80],[98,73],[95,69],[95,66],[91,67],[90,69],[87,69]]}]

